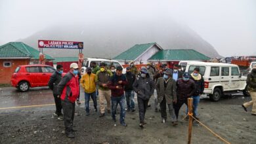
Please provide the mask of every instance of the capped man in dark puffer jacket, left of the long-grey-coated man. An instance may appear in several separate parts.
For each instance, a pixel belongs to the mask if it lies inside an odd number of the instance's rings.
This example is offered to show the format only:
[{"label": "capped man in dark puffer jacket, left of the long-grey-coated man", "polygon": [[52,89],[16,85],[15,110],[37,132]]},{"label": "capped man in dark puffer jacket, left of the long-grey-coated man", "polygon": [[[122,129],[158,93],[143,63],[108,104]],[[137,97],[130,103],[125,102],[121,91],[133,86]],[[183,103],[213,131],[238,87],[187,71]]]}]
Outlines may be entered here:
[{"label": "capped man in dark puffer jacket, left of the long-grey-coated man", "polygon": [[138,77],[133,83],[133,90],[137,93],[137,100],[139,105],[139,117],[140,117],[140,128],[143,128],[146,108],[148,107],[148,101],[150,96],[154,94],[155,84],[150,76],[148,70],[142,68],[140,71],[140,77]]}]

